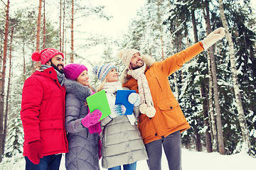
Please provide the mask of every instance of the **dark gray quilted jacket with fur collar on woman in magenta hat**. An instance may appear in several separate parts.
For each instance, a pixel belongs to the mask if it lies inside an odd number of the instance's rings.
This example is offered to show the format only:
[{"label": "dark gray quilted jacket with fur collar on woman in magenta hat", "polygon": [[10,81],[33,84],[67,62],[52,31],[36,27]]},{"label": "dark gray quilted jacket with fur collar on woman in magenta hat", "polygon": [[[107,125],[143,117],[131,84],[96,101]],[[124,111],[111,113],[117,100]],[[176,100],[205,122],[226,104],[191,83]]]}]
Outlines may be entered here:
[{"label": "dark gray quilted jacket with fur collar on woman in magenta hat", "polygon": [[90,134],[81,123],[81,119],[88,113],[84,101],[92,91],[88,86],[69,79],[65,80],[65,87],[65,129],[68,132],[69,149],[65,154],[65,168],[100,170],[97,147],[99,135],[97,132]]}]

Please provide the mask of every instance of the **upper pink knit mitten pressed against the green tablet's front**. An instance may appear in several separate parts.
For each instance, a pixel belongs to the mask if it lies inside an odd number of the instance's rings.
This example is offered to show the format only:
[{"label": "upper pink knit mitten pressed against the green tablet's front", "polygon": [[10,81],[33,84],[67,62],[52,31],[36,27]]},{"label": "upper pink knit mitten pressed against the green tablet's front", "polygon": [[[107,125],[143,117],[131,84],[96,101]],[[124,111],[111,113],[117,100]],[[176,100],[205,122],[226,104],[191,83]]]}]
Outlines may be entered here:
[{"label": "upper pink knit mitten pressed against the green tablet's front", "polygon": [[81,123],[85,128],[89,128],[91,125],[95,125],[100,120],[101,116],[101,111],[96,109],[92,113],[85,115],[85,118],[81,119]]}]

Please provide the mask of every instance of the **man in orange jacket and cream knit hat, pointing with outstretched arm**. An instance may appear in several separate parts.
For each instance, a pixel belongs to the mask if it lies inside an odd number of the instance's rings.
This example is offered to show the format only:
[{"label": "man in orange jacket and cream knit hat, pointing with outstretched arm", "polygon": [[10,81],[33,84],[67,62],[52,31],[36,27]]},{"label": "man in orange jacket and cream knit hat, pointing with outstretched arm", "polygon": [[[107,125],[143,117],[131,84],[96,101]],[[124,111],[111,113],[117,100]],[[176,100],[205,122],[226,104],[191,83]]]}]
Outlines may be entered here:
[{"label": "man in orange jacket and cream knit hat, pointing with outstretched arm", "polygon": [[190,128],[171,91],[168,77],[224,35],[225,29],[218,28],[201,42],[162,62],[154,62],[151,57],[142,56],[134,49],[117,53],[126,66],[121,75],[123,86],[137,91],[142,100],[138,128],[149,156],[147,164],[150,170],[161,169],[162,147],[169,169],[181,170],[180,132]]}]

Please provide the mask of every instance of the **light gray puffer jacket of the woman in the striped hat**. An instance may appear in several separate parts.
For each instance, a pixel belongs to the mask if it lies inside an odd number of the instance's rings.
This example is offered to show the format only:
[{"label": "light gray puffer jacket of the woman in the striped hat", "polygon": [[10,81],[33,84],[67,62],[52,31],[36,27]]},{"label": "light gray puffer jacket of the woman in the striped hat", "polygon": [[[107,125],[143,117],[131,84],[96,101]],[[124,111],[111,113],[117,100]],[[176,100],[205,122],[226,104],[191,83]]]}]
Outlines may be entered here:
[{"label": "light gray puffer jacket of the woman in the striped hat", "polygon": [[[134,108],[135,118],[139,117],[139,108]],[[102,131],[102,167],[112,168],[123,164],[132,164],[148,159],[142,136],[137,125],[131,125],[127,115],[101,120]]]}]

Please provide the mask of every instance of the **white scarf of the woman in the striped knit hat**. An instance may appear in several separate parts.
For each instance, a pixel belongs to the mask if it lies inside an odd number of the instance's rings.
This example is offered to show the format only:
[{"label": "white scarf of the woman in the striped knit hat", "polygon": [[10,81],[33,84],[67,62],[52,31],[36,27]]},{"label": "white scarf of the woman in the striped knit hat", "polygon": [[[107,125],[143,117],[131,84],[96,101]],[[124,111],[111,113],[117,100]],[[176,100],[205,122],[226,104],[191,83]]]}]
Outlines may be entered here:
[{"label": "white scarf of the woman in the striped knit hat", "polygon": [[[106,91],[107,101],[110,105],[110,108],[114,106],[115,100],[116,100],[116,93],[118,90],[122,89],[122,84],[119,81],[114,82],[107,82],[103,86],[102,90]],[[135,117],[134,115],[126,115],[131,125],[134,125],[135,123]]]}]

